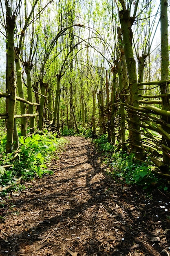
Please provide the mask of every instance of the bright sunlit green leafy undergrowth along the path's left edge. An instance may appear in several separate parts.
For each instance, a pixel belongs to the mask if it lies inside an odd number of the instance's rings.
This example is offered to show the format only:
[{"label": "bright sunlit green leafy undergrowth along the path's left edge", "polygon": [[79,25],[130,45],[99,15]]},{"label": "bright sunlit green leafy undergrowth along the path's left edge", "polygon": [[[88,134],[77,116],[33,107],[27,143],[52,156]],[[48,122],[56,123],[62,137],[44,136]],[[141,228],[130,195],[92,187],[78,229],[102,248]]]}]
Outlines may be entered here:
[{"label": "bright sunlit green leafy undergrowth along the path's left edge", "polygon": [[[15,180],[19,177],[22,180],[33,179],[35,176],[42,177],[42,175],[53,172],[48,170],[46,163],[50,162],[51,157],[54,157],[54,152],[59,152],[63,145],[66,144],[64,138],[57,138],[57,134],[52,134],[44,131],[42,134],[33,134],[31,137],[20,137],[20,150],[17,159],[12,161],[13,166],[8,170],[5,170],[0,166],[0,185],[2,187],[15,183]],[[0,153],[1,165],[11,164],[11,154],[6,157],[3,154],[5,152],[5,140],[1,140]],[[56,157],[56,156],[55,156]],[[2,171],[1,171],[2,168]]]}]

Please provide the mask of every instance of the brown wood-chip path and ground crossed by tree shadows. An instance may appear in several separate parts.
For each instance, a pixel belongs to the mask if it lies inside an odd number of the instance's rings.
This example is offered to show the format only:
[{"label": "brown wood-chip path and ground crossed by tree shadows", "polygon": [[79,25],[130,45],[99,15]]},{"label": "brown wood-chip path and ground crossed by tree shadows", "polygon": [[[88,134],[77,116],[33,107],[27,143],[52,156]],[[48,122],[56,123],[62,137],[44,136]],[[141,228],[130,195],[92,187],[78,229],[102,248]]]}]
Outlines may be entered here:
[{"label": "brown wood-chip path and ground crossed by tree shadows", "polygon": [[89,139],[68,140],[53,175],[5,198],[0,256],[170,255],[169,194],[111,180]]}]

